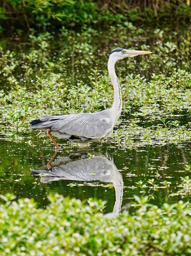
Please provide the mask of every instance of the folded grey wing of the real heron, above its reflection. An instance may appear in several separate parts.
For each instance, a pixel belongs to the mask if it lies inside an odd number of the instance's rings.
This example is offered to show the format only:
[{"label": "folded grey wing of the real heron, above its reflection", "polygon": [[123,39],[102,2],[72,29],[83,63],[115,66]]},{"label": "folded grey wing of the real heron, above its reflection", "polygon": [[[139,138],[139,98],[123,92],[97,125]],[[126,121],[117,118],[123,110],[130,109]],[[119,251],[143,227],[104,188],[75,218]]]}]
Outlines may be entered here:
[{"label": "folded grey wing of the real heron, above its reflection", "polygon": [[62,116],[51,127],[54,131],[86,138],[102,138],[112,130],[107,112],[79,113]]}]

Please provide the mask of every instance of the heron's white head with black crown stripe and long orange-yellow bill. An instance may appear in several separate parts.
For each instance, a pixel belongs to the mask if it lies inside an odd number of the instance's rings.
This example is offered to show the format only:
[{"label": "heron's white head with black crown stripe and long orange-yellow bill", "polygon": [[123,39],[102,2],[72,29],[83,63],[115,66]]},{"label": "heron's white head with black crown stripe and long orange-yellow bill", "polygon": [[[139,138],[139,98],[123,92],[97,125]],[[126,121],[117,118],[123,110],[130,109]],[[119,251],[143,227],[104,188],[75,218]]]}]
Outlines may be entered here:
[{"label": "heron's white head with black crown stripe and long orange-yellow bill", "polygon": [[148,52],[146,50],[127,50],[124,48],[116,48],[111,51],[109,58],[114,58],[117,61],[127,57],[134,57],[137,55],[144,55],[150,53],[152,52]]}]

